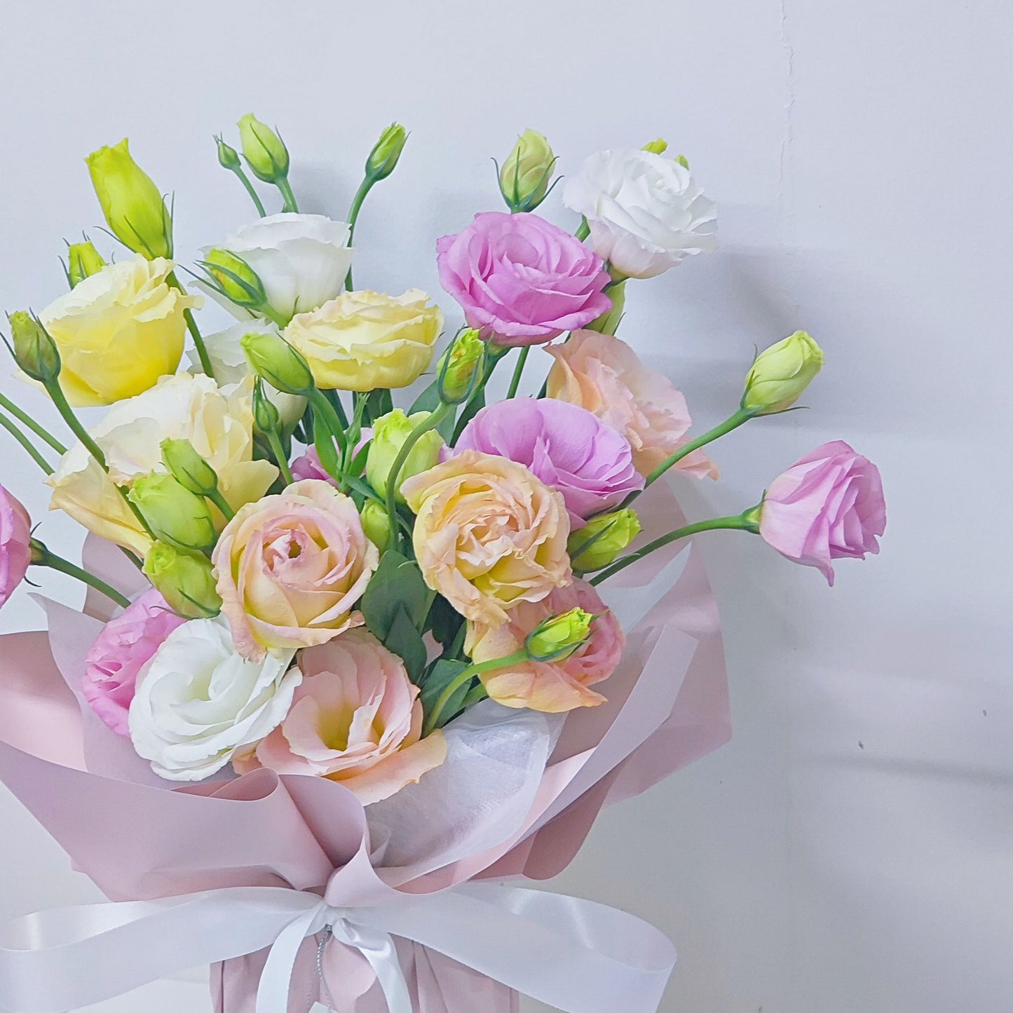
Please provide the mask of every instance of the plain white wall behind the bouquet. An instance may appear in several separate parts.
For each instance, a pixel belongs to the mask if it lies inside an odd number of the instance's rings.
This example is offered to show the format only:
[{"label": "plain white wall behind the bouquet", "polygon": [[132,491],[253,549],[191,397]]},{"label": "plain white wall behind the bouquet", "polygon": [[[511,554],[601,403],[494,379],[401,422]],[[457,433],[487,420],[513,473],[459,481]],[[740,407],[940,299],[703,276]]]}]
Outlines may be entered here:
[{"label": "plain white wall behind the bouquet", "polygon": [[[667,137],[719,203],[723,248],[637,284],[623,335],[701,426],[755,343],[804,326],[828,353],[813,410],[719,445],[725,480],[693,485],[689,511],[737,511],[843,438],[880,464],[889,528],[833,591],[712,536],[735,737],[606,813],[559,886],[671,934],[666,1013],[1003,1013],[1011,37],[1006,0],[4,0],[0,305],[63,290],[63,237],[99,221],[82,158],[125,134],[175,189],[188,258],[248,215],[211,142],[240,113],[282,127],[307,210],[336,216],[401,120],[410,146],[367,205],[357,281],[434,294],[434,240],[495,207],[488,159],[519,131],[545,132],[564,171]],[[19,453],[0,441],[2,481],[41,517]],[[74,548],[59,518],[44,535]],[[40,619],[22,598],[0,625]],[[7,795],[0,821],[0,917],[90,895]],[[141,1007],[207,1003],[166,985],[105,1009]]]}]

